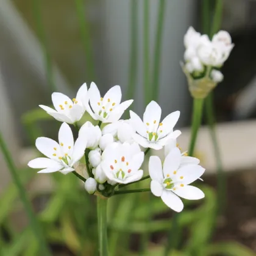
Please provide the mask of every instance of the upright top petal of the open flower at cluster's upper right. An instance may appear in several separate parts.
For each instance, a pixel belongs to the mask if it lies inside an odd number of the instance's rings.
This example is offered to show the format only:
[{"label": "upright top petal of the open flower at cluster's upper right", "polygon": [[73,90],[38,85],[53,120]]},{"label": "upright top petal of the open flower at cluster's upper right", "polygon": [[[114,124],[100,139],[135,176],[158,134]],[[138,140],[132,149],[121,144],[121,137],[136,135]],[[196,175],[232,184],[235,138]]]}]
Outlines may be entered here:
[{"label": "upright top petal of the open flower at cluster's upper right", "polygon": [[150,126],[155,125],[155,127],[158,127],[161,118],[161,113],[162,110],[160,108],[160,105],[157,104],[157,102],[149,102],[143,115],[143,123],[149,123]]}]

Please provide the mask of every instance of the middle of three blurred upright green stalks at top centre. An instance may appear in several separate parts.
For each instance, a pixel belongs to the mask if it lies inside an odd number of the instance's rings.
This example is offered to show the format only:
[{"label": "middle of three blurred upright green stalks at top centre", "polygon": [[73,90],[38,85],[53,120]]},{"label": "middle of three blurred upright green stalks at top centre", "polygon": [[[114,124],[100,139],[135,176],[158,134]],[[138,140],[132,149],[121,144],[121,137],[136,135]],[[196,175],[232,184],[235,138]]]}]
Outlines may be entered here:
[{"label": "middle of three blurred upright green stalks at top centre", "polygon": [[149,79],[149,0],[144,0],[143,12],[143,82],[144,103],[147,105],[151,99],[151,85]]}]

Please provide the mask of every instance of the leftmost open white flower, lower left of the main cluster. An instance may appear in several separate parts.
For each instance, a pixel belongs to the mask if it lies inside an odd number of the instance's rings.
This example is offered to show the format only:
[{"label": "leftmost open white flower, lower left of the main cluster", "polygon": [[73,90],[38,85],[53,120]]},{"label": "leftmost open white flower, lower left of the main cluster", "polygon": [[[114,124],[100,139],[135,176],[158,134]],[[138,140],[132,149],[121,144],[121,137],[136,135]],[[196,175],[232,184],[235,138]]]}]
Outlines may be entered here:
[{"label": "leftmost open white flower, lower left of the main cluster", "polygon": [[38,151],[46,157],[39,157],[31,160],[28,166],[41,169],[38,172],[60,171],[63,174],[74,171],[74,164],[82,158],[85,152],[87,141],[84,137],[78,137],[74,143],[73,133],[68,124],[63,123],[59,130],[59,143],[40,137],[35,141]]}]

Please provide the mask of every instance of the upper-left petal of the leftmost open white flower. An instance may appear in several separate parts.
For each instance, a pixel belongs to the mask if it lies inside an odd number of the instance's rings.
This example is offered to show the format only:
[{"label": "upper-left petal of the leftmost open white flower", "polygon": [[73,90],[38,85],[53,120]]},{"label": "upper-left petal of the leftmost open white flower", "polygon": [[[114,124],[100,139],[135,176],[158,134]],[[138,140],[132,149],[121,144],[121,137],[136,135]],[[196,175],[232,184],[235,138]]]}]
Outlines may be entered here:
[{"label": "upper-left petal of the leftmost open white flower", "polygon": [[55,140],[46,137],[37,138],[35,146],[42,154],[49,158],[55,158],[53,156],[53,154],[56,153],[54,148],[56,148],[57,151],[59,149],[59,144]]}]

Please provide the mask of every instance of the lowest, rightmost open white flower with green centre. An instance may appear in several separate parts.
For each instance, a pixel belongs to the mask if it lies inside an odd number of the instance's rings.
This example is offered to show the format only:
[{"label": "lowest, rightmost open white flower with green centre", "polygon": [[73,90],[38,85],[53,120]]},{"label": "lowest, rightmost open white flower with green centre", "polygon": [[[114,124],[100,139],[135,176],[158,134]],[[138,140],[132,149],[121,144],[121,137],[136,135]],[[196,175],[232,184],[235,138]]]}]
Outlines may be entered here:
[{"label": "lowest, rightmost open white flower with green centre", "polygon": [[178,148],[173,149],[162,163],[159,157],[149,158],[149,175],[151,176],[151,191],[160,196],[163,202],[172,210],[181,212],[183,203],[179,197],[197,200],[204,197],[199,188],[189,185],[202,176],[205,169],[200,165],[180,166],[181,155]]}]

